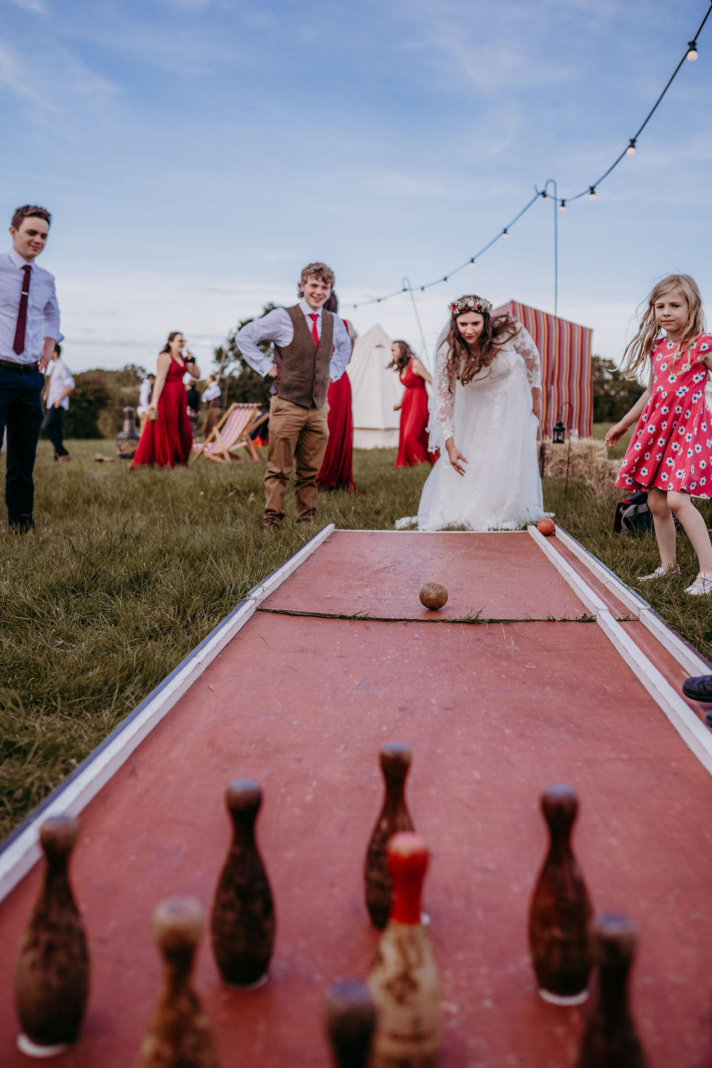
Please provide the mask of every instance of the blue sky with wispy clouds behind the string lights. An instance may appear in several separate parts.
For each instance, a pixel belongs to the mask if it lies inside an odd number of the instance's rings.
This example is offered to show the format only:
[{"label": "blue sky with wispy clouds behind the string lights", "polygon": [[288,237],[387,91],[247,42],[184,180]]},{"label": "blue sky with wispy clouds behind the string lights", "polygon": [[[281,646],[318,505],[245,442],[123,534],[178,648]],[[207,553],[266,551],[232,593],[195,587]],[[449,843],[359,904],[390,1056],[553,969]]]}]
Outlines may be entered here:
[{"label": "blue sky with wispy clouds behind the string lights", "polygon": [[[420,348],[406,296],[553,177],[590,185],[626,146],[709,0],[0,0],[0,210],[53,213],[69,365],[155,363],[183,330],[212,348],[325,260],[359,331]],[[712,17],[638,141],[559,214],[560,315],[618,360],[656,279],[712,300]],[[4,205],[4,206],[2,206]],[[553,311],[552,204],[417,294]]]}]

